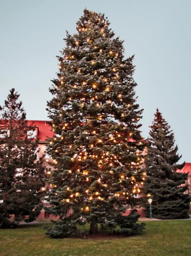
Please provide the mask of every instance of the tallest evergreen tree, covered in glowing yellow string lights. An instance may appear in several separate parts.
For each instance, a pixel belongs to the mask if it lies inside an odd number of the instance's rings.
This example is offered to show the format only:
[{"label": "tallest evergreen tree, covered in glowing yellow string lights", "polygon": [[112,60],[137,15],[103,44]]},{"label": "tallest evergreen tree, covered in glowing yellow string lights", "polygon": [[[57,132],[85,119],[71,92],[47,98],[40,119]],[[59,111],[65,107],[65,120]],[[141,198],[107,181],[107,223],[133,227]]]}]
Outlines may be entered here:
[{"label": "tallest evergreen tree, covered in glowing yellow string lights", "polygon": [[[137,215],[122,216],[137,205],[142,183],[144,141],[136,103],[133,56],[124,59],[123,41],[114,39],[104,15],[84,10],[77,34],[67,32],[58,56],[58,78],[48,102],[52,129],[48,152],[54,159],[48,200],[59,215],[52,237],[89,233],[120,225],[124,234],[142,230]],[[131,223],[131,224],[130,224]]]}]

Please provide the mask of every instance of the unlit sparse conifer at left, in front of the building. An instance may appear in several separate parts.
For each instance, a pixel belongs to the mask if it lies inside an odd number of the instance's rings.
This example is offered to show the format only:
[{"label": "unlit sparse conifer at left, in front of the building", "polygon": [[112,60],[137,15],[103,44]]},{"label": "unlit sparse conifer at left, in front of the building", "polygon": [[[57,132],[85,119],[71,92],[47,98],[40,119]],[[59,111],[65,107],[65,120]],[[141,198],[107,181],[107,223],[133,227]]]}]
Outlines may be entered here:
[{"label": "unlit sparse conifer at left, in front of the building", "polygon": [[[27,125],[19,94],[10,90],[0,107],[0,225],[16,226],[31,222],[42,209],[43,161],[37,161],[38,139],[35,128]],[[14,219],[10,219],[14,214]]]}]

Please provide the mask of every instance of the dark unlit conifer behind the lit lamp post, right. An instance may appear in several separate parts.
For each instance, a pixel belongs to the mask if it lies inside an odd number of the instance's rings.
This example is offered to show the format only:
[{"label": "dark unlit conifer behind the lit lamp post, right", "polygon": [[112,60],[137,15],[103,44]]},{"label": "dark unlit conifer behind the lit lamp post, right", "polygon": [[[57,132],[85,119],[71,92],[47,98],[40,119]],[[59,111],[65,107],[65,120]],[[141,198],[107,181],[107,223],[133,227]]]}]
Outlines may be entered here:
[{"label": "dark unlit conifer behind the lit lamp post, right", "polygon": [[[159,219],[189,218],[189,196],[184,192],[187,174],[177,173],[184,164],[177,164],[181,156],[177,153],[174,133],[157,109],[150,126],[148,155],[145,160],[147,178],[144,192],[151,195],[152,214]],[[149,217],[149,205],[146,206]]]}]

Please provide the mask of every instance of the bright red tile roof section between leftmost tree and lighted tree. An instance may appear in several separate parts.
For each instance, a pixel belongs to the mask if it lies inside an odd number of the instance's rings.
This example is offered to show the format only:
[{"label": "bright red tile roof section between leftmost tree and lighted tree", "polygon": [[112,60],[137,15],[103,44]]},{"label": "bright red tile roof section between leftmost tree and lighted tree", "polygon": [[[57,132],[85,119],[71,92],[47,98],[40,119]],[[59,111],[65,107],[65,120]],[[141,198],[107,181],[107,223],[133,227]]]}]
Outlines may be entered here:
[{"label": "bright red tile roof section between leftmost tree and lighted tree", "polygon": [[54,132],[51,131],[51,126],[48,122],[51,121],[39,121],[39,120],[27,120],[28,125],[33,125],[38,128],[37,136],[40,138],[40,142],[46,141],[47,137],[52,137]]}]

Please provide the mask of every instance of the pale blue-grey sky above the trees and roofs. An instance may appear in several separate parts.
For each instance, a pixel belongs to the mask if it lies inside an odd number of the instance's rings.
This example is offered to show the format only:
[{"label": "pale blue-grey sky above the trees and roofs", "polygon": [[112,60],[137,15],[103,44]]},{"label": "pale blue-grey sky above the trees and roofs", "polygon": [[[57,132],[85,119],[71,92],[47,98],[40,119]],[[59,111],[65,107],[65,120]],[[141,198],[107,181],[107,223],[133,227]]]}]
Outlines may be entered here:
[{"label": "pale blue-grey sky above the trees and roofs", "polygon": [[48,119],[56,55],[85,7],[108,17],[124,39],[125,57],[135,54],[142,135],[147,138],[158,107],[182,160],[191,162],[191,0],[0,0],[0,105],[14,87],[27,119]]}]

